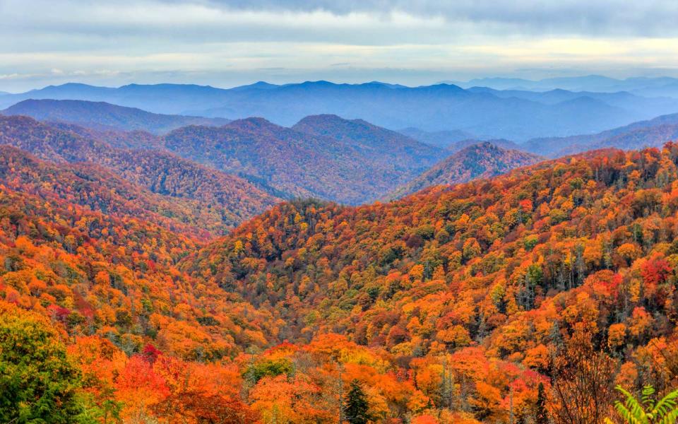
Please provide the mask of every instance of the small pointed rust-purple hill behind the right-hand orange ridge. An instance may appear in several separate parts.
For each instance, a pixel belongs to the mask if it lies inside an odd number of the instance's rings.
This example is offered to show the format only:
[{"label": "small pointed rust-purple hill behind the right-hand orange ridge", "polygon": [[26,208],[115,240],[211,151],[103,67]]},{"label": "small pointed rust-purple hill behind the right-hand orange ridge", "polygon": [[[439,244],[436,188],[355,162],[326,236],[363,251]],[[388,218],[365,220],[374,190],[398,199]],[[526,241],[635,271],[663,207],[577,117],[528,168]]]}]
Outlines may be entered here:
[{"label": "small pointed rust-purple hill behind the right-hand orange ridge", "polygon": [[434,185],[458,184],[476,178],[494,177],[513,168],[533,165],[541,160],[540,156],[532,153],[508,150],[486,141],[454,153],[398,188],[389,197],[406,196]]}]

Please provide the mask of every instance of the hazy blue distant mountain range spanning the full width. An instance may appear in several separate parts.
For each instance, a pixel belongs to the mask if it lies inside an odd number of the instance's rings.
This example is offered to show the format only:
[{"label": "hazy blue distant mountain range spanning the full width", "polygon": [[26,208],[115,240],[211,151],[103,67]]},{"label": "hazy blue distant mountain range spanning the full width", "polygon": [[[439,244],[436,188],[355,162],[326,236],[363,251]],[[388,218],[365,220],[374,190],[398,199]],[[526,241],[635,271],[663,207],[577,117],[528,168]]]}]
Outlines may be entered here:
[{"label": "hazy blue distant mountain range spanning the full width", "polygon": [[389,129],[459,130],[478,139],[513,140],[592,133],[678,110],[674,100],[634,94],[574,93],[561,97],[563,100],[555,101],[557,96],[530,98],[465,90],[451,84],[405,87],[380,82],[307,81],[277,86],[260,82],[222,89],[177,84],[109,88],[70,83],[2,95],[0,107],[28,98],[76,99],[162,114],[228,119],[258,116],[283,126],[292,126],[309,115],[337,114]]}]

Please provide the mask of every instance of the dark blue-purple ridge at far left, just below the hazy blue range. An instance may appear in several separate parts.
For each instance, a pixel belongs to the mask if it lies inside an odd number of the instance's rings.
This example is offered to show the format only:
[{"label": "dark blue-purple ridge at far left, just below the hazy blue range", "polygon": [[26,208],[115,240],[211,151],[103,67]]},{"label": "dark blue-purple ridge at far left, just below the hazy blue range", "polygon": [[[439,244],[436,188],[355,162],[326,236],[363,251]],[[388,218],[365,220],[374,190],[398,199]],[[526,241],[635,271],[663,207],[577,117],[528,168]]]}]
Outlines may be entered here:
[{"label": "dark blue-purple ridge at far left, just below the hazy blue range", "polygon": [[23,100],[0,111],[0,114],[24,115],[39,121],[70,122],[93,129],[143,130],[154,134],[166,133],[186,125],[220,126],[230,122],[222,118],[155,114],[134,107],[84,100]]}]

